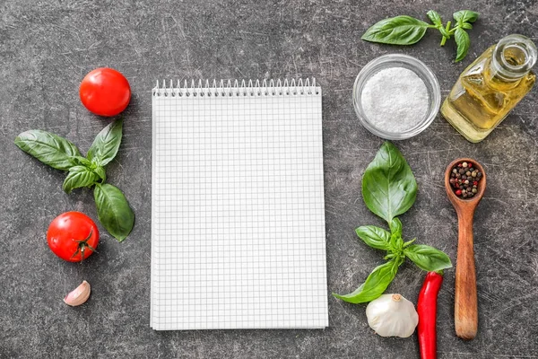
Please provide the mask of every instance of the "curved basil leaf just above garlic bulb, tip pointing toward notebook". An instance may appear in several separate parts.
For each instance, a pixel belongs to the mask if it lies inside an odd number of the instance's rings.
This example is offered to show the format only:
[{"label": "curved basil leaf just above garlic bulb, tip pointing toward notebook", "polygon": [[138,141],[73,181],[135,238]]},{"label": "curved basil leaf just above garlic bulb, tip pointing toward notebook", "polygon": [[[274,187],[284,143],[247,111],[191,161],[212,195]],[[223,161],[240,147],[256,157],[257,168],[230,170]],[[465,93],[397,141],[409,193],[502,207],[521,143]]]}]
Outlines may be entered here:
[{"label": "curved basil leaf just above garlic bulb, tip pointing toward notebook", "polygon": [[389,260],[385,264],[374,268],[372,273],[366,278],[364,284],[360,285],[353,293],[345,295],[333,293],[333,295],[338,299],[342,299],[344,302],[355,304],[373,301],[385,292],[386,287],[395,278],[397,271],[398,263],[394,259]]}]

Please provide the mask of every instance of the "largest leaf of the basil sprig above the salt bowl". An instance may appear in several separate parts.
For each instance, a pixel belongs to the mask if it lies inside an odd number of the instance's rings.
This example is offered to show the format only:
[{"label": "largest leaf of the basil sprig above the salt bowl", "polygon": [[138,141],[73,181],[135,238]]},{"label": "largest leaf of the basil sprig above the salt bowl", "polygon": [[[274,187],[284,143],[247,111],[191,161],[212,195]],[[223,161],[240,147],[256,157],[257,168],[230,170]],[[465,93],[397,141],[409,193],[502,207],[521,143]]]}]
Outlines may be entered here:
[{"label": "largest leaf of the basil sprig above the salt bowl", "polygon": [[377,22],[361,39],[392,45],[412,45],[418,42],[430,25],[411,16],[396,16]]}]

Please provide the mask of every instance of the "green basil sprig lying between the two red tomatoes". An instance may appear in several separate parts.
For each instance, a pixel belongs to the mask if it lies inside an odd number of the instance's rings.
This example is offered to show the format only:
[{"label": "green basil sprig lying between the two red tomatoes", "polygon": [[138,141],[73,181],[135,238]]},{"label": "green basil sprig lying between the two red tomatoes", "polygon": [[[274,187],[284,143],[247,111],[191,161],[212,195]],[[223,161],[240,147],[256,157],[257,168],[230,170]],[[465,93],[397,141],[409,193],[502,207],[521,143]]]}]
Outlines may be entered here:
[{"label": "green basil sprig lying between the two red tomatoes", "polygon": [[123,241],[134,225],[134,213],[119,188],[105,183],[105,166],[116,157],[121,144],[123,120],[117,119],[95,137],[86,157],[72,142],[47,131],[22,132],[15,144],[40,162],[67,171],[65,193],[74,188],[93,188],[100,223],[117,241]]}]

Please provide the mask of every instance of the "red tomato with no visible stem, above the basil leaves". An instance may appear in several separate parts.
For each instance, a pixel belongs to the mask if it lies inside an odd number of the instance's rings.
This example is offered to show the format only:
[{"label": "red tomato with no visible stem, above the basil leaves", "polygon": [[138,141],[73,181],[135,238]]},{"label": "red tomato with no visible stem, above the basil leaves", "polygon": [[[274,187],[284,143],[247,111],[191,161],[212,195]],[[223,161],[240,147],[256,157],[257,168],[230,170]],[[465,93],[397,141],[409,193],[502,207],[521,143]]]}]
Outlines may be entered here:
[{"label": "red tomato with no visible stem, above the basil leaves", "polygon": [[116,116],[131,100],[131,86],[120,72],[100,67],[86,74],[79,89],[82,104],[91,113]]}]

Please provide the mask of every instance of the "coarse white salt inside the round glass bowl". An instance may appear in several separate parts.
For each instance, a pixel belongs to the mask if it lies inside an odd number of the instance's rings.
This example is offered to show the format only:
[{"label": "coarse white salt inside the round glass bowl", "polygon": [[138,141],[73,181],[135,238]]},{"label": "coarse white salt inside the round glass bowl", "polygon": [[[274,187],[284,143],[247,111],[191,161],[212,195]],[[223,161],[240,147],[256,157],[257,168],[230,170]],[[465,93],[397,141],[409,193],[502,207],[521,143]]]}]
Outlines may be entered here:
[{"label": "coarse white salt inside the round glass bowl", "polygon": [[430,107],[426,84],[405,67],[389,67],[374,74],[364,84],[360,99],[369,122],[393,133],[417,126]]}]

